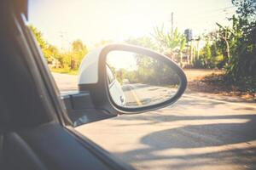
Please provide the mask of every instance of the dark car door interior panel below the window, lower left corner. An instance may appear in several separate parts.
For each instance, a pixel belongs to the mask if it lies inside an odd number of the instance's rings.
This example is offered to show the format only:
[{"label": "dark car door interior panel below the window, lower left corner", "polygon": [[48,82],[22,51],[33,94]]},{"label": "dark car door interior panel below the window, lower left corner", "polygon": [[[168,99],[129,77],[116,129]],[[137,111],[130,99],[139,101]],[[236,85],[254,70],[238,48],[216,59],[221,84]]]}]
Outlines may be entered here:
[{"label": "dark car door interior panel below the window, lower left corner", "polygon": [[55,123],[6,134],[3,155],[10,169],[110,169]]}]

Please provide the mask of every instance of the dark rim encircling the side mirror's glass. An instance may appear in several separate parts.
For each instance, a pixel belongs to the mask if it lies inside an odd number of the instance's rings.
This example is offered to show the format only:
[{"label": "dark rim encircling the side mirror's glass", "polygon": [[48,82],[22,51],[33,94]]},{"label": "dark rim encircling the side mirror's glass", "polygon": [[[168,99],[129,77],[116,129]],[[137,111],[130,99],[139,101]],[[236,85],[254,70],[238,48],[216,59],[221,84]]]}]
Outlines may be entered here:
[{"label": "dark rim encircling the side mirror's glass", "polygon": [[[167,99],[166,101],[160,102],[159,104],[155,105],[145,105],[138,108],[125,108],[120,105],[116,105],[110,96],[109,89],[108,89],[108,82],[107,82],[107,73],[106,73],[106,59],[109,52],[119,50],[119,51],[127,51],[127,52],[133,52],[137,54],[145,54],[148,55],[154,59],[160,59],[168,65],[172,67],[172,70],[177,73],[177,76],[179,77],[180,86],[177,90],[177,93],[171,98]],[[168,105],[173,105],[177,100],[183,95],[185,89],[187,88],[187,77],[185,76],[185,73],[183,72],[183,69],[180,68],[174,61],[167,58],[164,54],[159,54],[157,52],[152,51],[148,48],[142,48],[137,47],[133,45],[128,44],[108,44],[104,48],[102,48],[102,51],[100,53],[99,57],[99,83],[102,84],[104,87],[102,89],[105,89],[105,95],[109,101],[109,105],[111,105],[116,111],[118,111],[121,114],[137,114],[142,113],[146,111],[155,111],[160,108],[166,107]],[[107,106],[107,105],[105,105]]]}]

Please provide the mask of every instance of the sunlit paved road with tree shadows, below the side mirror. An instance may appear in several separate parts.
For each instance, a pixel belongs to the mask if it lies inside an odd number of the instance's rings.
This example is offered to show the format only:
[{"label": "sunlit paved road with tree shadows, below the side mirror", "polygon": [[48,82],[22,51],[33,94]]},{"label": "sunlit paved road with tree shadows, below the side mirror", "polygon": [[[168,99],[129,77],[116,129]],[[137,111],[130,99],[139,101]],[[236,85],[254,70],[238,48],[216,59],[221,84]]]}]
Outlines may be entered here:
[{"label": "sunlit paved road with tree shadows, below the side mirror", "polygon": [[256,105],[229,100],[185,93],[158,111],[76,129],[137,169],[256,169]]}]

